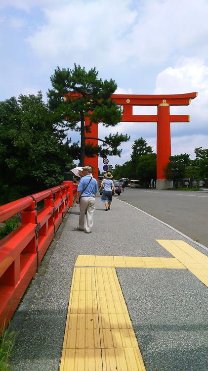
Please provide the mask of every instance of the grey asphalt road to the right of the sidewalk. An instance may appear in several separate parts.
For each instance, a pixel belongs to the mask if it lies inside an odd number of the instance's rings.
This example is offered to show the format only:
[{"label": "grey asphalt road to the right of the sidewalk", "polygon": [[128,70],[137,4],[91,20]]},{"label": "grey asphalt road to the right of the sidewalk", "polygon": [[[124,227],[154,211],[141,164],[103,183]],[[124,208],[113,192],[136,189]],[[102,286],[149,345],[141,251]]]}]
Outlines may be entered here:
[{"label": "grey asphalt road to the right of the sidewalk", "polygon": [[208,193],[125,188],[121,200],[208,247]]}]

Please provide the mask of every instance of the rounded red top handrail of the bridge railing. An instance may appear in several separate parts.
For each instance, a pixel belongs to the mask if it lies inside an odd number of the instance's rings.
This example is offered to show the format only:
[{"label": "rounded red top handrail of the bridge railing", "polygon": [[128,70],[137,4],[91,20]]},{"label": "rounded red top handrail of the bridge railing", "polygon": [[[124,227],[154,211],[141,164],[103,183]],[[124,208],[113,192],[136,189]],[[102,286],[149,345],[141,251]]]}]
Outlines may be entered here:
[{"label": "rounded red top handrail of the bridge railing", "polygon": [[[51,191],[53,193],[59,192],[60,189],[66,189],[66,185],[57,185],[53,188],[43,190],[38,193],[31,194],[30,196],[26,196],[23,198],[19,198],[18,200],[6,203],[0,206],[0,223],[4,222],[5,220],[13,217],[14,215],[20,213],[23,210],[26,210],[32,206],[33,199],[36,202],[40,202],[45,198],[51,195]],[[32,196],[32,197],[31,197]]]}]

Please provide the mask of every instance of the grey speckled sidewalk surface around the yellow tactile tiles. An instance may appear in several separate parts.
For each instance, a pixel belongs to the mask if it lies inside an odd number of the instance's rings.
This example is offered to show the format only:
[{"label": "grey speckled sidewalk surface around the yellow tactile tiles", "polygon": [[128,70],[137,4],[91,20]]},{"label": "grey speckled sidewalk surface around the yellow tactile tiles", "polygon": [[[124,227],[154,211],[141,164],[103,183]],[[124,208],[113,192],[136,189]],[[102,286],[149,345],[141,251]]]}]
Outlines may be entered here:
[{"label": "grey speckled sidewalk surface around the yellow tactile tiles", "polygon": [[[172,257],[156,239],[184,240],[114,197],[106,212],[96,197],[92,233],[77,230],[73,207],[50,245],[12,325],[20,334],[16,371],[58,371],[73,269],[78,255]],[[208,370],[207,287],[187,269],[116,268],[147,371]],[[81,370],[82,371],[82,370]]]}]

